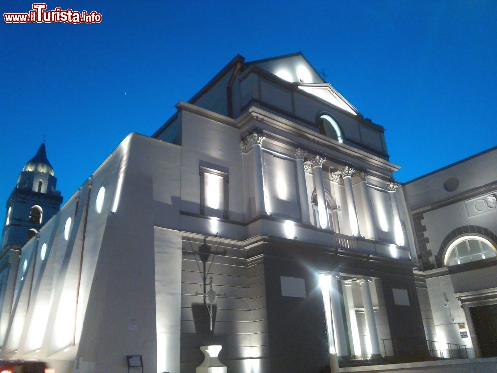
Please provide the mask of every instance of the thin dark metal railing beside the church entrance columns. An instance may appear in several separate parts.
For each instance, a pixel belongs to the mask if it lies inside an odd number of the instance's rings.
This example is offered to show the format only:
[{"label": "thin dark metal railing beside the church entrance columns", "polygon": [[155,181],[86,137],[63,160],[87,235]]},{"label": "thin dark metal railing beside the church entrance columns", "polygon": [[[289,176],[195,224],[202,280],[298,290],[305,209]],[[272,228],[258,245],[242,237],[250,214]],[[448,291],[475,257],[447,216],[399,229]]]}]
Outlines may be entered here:
[{"label": "thin dark metal railing beside the church entrance columns", "polygon": [[381,341],[384,357],[426,356],[424,347],[427,347],[431,358],[468,359],[466,346],[458,343],[442,343],[420,338],[387,338]]}]

